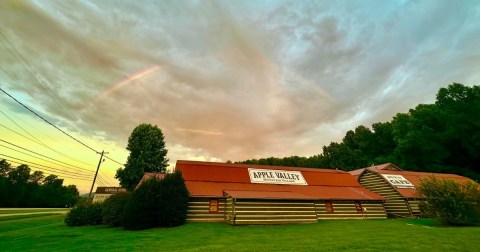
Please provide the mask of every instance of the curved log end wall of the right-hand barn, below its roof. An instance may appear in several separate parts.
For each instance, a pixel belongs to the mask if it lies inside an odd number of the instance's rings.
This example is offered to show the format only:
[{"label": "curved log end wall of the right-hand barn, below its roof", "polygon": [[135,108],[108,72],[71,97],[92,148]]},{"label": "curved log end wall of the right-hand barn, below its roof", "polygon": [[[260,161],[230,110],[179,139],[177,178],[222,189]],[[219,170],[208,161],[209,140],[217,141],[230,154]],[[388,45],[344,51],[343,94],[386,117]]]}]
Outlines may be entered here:
[{"label": "curved log end wall of the right-hand barn, below its roof", "polygon": [[380,174],[366,170],[360,176],[359,182],[363,187],[385,198],[384,206],[388,215],[393,217],[412,215],[406,199],[386,182]]}]

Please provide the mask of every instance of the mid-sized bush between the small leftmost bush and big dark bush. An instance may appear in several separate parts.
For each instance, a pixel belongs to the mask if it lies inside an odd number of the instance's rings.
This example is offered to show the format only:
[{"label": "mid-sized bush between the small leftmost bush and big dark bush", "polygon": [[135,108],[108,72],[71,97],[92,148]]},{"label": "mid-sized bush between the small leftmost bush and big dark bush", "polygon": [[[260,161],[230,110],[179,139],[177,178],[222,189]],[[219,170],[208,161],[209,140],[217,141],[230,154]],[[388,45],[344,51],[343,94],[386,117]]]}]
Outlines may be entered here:
[{"label": "mid-sized bush between the small leftmost bush and big dark bush", "polygon": [[112,227],[123,225],[125,206],[132,198],[132,193],[121,192],[110,196],[103,202],[102,222]]}]

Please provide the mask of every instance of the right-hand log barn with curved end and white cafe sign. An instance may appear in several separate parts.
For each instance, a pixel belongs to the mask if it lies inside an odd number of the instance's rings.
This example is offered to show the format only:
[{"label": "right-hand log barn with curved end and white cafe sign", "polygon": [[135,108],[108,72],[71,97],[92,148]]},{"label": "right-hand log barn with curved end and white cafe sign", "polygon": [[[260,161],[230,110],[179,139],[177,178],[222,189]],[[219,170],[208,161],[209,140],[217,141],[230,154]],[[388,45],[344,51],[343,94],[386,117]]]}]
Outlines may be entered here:
[{"label": "right-hand log barn with curved end and white cafe sign", "polygon": [[356,177],[362,186],[385,198],[385,211],[393,218],[420,216],[418,203],[423,198],[417,195],[415,188],[421,179],[433,176],[461,184],[473,182],[455,174],[404,171],[391,163],[354,170],[350,174]]}]

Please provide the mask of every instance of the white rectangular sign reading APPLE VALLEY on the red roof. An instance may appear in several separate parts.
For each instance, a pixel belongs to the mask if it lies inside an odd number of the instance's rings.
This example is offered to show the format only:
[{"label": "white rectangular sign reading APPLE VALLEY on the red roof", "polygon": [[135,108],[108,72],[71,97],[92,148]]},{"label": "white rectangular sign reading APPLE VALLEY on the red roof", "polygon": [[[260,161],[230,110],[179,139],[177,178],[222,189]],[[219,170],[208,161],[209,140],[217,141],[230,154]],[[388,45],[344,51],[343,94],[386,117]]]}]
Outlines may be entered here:
[{"label": "white rectangular sign reading APPLE VALLEY on the red roof", "polygon": [[250,182],[257,184],[308,185],[300,171],[248,168]]}]

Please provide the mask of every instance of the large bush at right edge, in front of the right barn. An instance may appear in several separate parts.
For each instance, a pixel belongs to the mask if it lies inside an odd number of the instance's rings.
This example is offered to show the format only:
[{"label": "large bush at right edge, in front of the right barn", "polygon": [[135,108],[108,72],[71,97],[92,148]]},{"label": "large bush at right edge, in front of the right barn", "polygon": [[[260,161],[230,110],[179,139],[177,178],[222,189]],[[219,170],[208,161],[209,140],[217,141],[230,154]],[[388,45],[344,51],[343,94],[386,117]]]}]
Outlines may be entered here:
[{"label": "large bush at right edge, in front of the right barn", "polygon": [[450,179],[422,179],[417,188],[425,198],[421,209],[446,225],[480,225],[480,191],[477,183],[459,184]]}]

